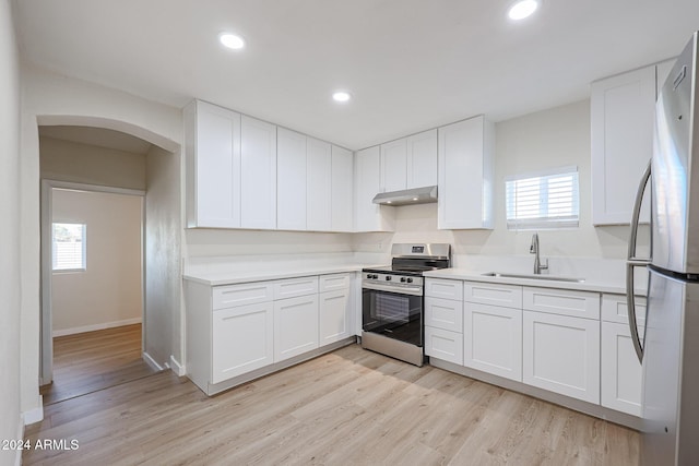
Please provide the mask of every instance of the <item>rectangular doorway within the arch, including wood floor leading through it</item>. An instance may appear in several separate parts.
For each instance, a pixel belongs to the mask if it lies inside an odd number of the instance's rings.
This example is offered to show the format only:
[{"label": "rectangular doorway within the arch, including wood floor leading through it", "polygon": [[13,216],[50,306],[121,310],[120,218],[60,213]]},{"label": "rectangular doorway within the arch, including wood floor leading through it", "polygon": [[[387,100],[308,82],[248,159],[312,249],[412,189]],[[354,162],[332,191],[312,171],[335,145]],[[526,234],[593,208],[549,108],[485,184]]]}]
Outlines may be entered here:
[{"label": "rectangular doorway within the arch, including wood floor leading through it", "polygon": [[58,181],[43,190],[54,363],[40,393],[49,405],[156,370],[142,358],[144,192]]}]

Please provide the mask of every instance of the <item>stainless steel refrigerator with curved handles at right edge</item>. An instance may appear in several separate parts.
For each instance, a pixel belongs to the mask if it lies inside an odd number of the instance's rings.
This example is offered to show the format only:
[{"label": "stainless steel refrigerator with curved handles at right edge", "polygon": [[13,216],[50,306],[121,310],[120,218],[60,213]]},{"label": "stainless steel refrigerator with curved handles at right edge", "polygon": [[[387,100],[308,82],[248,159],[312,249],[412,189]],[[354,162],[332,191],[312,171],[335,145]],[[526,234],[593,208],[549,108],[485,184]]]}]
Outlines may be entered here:
[{"label": "stainless steel refrigerator with curved handles at right edge", "polygon": [[[656,103],[653,157],[633,208],[627,297],[642,363],[641,464],[699,465],[699,115],[695,33]],[[643,184],[651,187],[651,258],[636,258]],[[639,338],[633,270],[649,274]]]}]

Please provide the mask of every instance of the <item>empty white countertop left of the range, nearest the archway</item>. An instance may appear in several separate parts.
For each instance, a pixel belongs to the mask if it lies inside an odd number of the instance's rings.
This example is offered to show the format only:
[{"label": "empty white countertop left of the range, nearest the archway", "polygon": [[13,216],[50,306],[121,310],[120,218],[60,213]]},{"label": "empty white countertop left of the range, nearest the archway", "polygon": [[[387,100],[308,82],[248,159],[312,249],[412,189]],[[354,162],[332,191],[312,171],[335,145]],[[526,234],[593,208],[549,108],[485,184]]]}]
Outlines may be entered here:
[{"label": "empty white countertop left of the range, nearest the archway", "polygon": [[182,275],[186,280],[197,282],[209,286],[235,285],[249,282],[265,282],[272,279],[295,278],[309,275],[340,274],[346,272],[359,272],[362,264],[337,265],[310,265],[310,266],[283,266],[259,271],[230,271],[230,272],[197,272]]}]

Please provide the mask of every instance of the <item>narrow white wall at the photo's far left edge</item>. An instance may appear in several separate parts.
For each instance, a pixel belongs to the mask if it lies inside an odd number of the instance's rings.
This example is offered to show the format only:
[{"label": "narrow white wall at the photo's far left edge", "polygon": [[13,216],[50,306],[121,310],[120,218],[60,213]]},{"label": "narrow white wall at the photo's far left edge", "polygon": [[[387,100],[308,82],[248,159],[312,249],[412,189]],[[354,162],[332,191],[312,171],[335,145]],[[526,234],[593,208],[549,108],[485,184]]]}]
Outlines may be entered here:
[{"label": "narrow white wall at the photo's far left edge", "polygon": [[[0,0],[0,440],[22,438],[20,417],[20,71],[10,0]],[[35,186],[36,189],[36,186]],[[36,379],[36,373],[35,373]],[[0,465],[17,452],[0,450]]]}]

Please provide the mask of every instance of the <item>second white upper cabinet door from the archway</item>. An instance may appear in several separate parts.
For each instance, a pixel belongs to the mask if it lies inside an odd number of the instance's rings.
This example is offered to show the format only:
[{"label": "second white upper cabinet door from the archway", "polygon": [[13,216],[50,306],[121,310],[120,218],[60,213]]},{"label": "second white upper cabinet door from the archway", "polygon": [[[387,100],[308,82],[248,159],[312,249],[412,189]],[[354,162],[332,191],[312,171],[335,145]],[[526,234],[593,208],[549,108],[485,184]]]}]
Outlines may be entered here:
[{"label": "second white upper cabinet door from the archway", "polygon": [[240,226],[276,228],[276,127],[241,118]]}]

